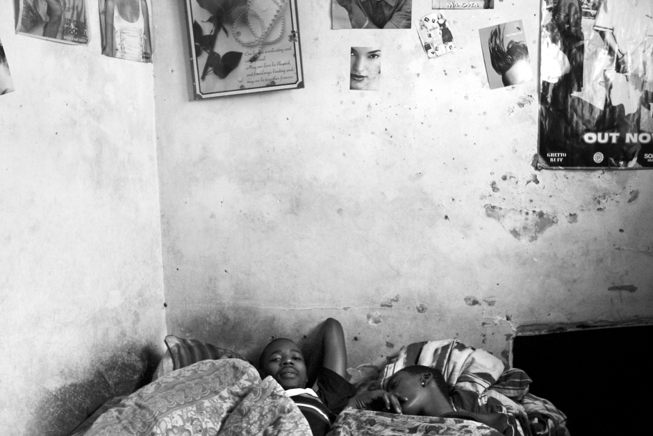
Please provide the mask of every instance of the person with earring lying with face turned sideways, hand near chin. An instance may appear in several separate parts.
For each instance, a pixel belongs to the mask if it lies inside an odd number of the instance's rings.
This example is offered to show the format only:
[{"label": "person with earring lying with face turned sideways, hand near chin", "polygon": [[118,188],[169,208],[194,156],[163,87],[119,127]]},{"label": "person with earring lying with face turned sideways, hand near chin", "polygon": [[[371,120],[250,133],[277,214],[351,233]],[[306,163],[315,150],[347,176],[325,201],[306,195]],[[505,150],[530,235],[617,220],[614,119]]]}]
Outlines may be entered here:
[{"label": "person with earring lying with face turned sideways, hand near chin", "polygon": [[[347,405],[367,409],[381,403],[386,411],[424,417],[477,421],[505,436],[522,434],[515,418],[489,398],[483,406],[472,405],[461,396],[449,396],[449,385],[440,371],[429,366],[406,366],[388,380],[388,390],[362,392]],[[473,410],[468,410],[473,409]]]}]

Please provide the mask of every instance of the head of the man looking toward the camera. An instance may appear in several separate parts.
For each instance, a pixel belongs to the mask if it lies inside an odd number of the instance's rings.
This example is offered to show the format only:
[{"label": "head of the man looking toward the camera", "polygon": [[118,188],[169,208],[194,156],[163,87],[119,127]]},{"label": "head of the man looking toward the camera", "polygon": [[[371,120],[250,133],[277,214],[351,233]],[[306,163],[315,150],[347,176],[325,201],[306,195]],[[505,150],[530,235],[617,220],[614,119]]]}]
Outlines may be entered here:
[{"label": "head of the man looking toward the camera", "polygon": [[258,366],[263,376],[272,376],[283,389],[306,387],[308,376],[304,355],[290,339],[274,339],[267,344],[258,360]]}]

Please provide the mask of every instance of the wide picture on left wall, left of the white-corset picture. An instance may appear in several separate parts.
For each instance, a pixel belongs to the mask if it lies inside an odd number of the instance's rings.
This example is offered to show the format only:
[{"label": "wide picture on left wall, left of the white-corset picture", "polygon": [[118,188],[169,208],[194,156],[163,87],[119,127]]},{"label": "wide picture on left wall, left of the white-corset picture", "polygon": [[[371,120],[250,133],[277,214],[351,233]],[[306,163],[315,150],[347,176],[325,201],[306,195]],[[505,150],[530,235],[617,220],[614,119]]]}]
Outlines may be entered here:
[{"label": "wide picture on left wall, left of the white-corset picture", "polygon": [[16,33],[66,44],[88,43],[86,0],[16,1]]}]

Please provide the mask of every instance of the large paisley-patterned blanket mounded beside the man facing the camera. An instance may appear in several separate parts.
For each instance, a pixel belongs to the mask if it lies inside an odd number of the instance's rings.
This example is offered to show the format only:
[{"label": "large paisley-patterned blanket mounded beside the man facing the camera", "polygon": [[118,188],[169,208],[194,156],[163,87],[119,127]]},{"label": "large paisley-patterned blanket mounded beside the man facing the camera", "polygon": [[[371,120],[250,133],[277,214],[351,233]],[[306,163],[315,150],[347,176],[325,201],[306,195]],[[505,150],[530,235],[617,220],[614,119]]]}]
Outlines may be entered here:
[{"label": "large paisley-patterned blanket mounded beside the man facing the camera", "polygon": [[311,436],[271,377],[239,359],[204,360],[158,378],[74,436]]}]

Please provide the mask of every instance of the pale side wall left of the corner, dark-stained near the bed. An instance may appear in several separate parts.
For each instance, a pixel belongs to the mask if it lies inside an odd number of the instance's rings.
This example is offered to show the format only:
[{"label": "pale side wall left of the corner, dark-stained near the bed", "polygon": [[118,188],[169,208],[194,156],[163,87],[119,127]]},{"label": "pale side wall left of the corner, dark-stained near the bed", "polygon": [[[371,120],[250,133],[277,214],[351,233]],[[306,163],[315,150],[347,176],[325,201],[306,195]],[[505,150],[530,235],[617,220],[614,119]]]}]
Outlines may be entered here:
[{"label": "pale side wall left of the corner, dark-stained near the bed", "polygon": [[88,47],[0,38],[0,435],[63,436],[163,352],[154,74]]}]

